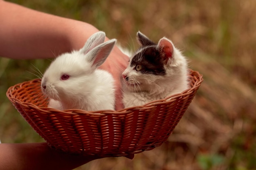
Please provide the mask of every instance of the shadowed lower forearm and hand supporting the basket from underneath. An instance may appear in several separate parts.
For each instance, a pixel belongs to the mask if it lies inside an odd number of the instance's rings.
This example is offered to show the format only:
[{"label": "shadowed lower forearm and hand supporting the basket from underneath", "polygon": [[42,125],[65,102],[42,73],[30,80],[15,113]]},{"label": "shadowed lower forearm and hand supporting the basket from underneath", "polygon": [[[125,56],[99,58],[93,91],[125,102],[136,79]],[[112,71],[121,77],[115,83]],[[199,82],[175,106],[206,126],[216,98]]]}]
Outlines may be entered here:
[{"label": "shadowed lower forearm and hand supporting the basket from underneath", "polygon": [[[71,155],[59,152],[45,142],[0,144],[0,150],[1,170],[72,170],[92,160],[103,158],[97,155]],[[126,157],[132,159],[134,154]]]}]

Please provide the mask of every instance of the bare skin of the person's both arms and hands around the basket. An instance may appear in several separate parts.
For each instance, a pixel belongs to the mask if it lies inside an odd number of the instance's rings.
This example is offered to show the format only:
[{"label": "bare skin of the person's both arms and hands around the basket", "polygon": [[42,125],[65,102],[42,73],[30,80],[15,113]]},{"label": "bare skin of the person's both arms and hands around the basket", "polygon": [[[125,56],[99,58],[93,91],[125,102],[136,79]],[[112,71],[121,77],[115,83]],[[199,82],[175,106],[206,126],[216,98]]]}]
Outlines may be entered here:
[{"label": "bare skin of the person's both arms and hands around the basket", "polygon": [[[0,56],[13,59],[53,58],[80,49],[99,30],[91,24],[62,18],[0,0]],[[106,38],[106,40],[109,40]],[[128,57],[115,46],[102,69],[112,73],[116,86],[116,110],[121,104],[121,73]],[[134,155],[129,155],[133,158]],[[0,144],[1,170],[72,170],[97,156],[57,152],[46,143]]]}]

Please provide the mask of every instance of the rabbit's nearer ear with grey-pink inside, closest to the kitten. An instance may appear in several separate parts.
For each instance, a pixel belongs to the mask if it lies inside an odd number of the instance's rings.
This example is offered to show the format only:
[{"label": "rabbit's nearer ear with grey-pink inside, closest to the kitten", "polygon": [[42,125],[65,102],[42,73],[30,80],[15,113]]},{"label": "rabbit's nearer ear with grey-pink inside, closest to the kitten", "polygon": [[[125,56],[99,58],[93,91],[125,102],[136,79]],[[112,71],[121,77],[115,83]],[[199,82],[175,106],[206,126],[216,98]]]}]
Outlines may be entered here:
[{"label": "rabbit's nearer ear with grey-pink inside, closest to the kitten", "polygon": [[86,54],[88,62],[92,62],[94,68],[101,66],[112,51],[116,41],[116,39],[109,40],[89,51]]}]

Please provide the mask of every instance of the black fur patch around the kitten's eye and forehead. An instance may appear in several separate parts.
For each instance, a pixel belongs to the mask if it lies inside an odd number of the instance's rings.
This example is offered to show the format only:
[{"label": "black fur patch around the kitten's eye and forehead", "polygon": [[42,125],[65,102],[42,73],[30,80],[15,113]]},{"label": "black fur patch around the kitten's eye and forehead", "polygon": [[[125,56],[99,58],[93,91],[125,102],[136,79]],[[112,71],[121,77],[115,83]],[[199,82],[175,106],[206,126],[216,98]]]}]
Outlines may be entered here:
[{"label": "black fur patch around the kitten's eye and forehead", "polygon": [[144,74],[154,74],[154,75],[165,75],[166,70],[164,69],[164,64],[162,62],[161,52],[154,46],[147,46],[139,49],[132,57],[130,66],[135,66],[140,64],[142,66],[139,72]]}]

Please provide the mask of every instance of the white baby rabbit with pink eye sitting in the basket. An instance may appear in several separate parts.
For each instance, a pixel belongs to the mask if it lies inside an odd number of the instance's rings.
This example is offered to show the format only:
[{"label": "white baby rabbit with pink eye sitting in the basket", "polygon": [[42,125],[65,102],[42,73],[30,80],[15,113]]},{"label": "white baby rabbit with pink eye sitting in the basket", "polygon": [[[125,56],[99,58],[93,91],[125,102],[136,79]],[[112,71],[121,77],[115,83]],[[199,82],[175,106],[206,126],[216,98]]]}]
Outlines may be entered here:
[{"label": "white baby rabbit with pink eye sitting in the basket", "polygon": [[104,32],[94,33],[82,49],[64,53],[50,64],[41,82],[41,89],[49,98],[48,107],[114,110],[114,79],[98,67],[105,62],[116,40],[104,40]]}]

